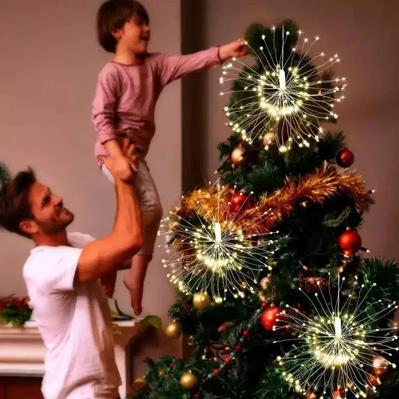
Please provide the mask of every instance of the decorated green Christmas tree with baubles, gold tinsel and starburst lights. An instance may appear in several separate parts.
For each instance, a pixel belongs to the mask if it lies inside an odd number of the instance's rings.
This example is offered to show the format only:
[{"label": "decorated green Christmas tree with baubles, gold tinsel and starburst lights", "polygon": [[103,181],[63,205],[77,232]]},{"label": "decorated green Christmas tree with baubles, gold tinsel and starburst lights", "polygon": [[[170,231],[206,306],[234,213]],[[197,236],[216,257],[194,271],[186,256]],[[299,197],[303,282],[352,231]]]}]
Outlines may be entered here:
[{"label": "decorated green Christmas tree with baubles, gold tinsel and starburst lights", "polygon": [[362,256],[373,191],[348,169],[344,133],[323,130],[346,80],[318,40],[254,24],[252,63],[223,65],[219,179],[160,230],[179,289],[166,333],[187,333],[193,354],[148,360],[134,398],[396,397],[399,270]]}]

